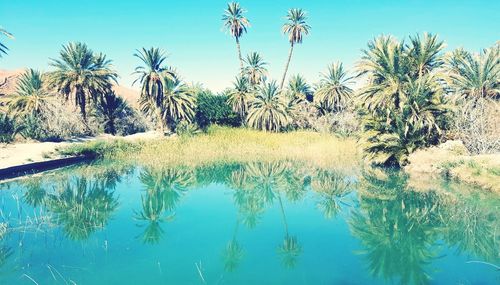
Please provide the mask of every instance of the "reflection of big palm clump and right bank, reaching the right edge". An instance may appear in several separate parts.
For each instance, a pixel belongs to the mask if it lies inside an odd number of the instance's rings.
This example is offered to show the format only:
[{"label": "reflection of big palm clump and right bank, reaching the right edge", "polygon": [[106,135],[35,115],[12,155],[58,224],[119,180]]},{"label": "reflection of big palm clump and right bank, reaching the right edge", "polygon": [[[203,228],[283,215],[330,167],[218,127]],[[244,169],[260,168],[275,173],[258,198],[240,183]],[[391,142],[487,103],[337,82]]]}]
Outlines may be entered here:
[{"label": "reflection of big palm clump and right bank, reaching the right edge", "polygon": [[470,199],[457,200],[444,192],[412,191],[399,172],[365,173],[359,194],[360,206],[349,224],[376,277],[428,284],[433,272],[429,264],[438,258],[441,239],[459,251],[498,260],[498,212],[485,214],[484,205],[474,207]]}]

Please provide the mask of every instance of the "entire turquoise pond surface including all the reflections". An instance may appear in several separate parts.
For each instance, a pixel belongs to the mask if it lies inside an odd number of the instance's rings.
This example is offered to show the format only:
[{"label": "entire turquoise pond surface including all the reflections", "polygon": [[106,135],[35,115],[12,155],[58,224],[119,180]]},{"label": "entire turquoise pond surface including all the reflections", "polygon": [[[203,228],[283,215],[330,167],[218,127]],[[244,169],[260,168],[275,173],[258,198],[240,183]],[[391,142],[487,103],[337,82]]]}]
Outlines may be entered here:
[{"label": "entire turquoise pond surface including all the reflections", "polygon": [[4,183],[0,284],[500,284],[499,198],[410,184],[291,162]]}]

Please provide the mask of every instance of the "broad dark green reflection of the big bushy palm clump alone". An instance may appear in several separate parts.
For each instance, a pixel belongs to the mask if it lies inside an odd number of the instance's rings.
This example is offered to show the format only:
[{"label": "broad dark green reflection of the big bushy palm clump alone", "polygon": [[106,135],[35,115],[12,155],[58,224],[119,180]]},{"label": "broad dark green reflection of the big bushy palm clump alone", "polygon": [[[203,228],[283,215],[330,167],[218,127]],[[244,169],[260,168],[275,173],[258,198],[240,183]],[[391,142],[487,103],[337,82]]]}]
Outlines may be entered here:
[{"label": "broad dark green reflection of the big bushy palm clump alone", "polygon": [[436,256],[433,244],[439,231],[440,202],[433,192],[407,189],[406,180],[399,178],[397,182],[396,176],[388,174],[385,185],[374,176],[362,178],[360,185],[367,188],[360,191],[360,207],[349,224],[365,247],[374,276],[402,284],[427,284],[430,276],[425,266]]}]

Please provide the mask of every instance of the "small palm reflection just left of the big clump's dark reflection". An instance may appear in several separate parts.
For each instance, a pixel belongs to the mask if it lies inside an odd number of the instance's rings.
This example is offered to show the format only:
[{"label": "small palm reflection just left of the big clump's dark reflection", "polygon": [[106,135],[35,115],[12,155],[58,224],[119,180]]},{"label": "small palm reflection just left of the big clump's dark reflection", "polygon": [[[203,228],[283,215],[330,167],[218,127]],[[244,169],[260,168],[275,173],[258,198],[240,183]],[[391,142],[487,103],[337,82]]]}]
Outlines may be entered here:
[{"label": "small palm reflection just left of the big clump's dark reflection", "polygon": [[339,213],[340,202],[352,191],[352,182],[339,172],[317,170],[311,187],[321,197],[318,207],[325,218],[330,219]]}]

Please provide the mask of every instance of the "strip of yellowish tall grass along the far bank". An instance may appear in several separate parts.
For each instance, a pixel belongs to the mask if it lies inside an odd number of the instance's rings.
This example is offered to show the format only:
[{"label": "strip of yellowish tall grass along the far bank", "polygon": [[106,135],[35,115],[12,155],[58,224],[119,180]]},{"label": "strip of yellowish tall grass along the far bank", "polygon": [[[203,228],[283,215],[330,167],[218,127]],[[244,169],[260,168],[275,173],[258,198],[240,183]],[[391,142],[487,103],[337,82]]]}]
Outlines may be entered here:
[{"label": "strip of yellowish tall grass along the far bank", "polygon": [[312,131],[269,133],[218,126],[191,137],[137,142],[94,141],[60,152],[134,161],[142,165],[300,160],[320,167],[354,168],[361,163],[354,139]]}]

